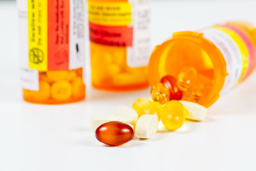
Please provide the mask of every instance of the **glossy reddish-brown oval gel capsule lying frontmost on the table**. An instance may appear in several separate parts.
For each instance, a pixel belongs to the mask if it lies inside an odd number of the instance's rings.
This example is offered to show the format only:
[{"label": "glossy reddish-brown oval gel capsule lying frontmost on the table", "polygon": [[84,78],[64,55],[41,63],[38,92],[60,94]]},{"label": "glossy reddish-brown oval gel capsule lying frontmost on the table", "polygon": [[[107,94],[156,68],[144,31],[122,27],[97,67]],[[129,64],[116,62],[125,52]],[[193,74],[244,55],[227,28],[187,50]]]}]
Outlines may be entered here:
[{"label": "glossy reddish-brown oval gel capsule lying frontmost on the table", "polygon": [[115,146],[131,141],[134,137],[134,131],[128,124],[113,121],[100,125],[95,136],[100,142]]}]

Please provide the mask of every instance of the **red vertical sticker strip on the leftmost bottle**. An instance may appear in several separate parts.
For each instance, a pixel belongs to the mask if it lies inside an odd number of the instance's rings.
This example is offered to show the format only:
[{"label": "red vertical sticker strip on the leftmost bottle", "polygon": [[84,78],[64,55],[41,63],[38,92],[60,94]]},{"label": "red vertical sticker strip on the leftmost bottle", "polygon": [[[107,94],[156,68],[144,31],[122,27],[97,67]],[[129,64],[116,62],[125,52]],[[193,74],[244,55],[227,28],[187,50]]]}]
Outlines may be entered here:
[{"label": "red vertical sticker strip on the leftmost bottle", "polygon": [[68,70],[69,0],[48,2],[48,70]]}]

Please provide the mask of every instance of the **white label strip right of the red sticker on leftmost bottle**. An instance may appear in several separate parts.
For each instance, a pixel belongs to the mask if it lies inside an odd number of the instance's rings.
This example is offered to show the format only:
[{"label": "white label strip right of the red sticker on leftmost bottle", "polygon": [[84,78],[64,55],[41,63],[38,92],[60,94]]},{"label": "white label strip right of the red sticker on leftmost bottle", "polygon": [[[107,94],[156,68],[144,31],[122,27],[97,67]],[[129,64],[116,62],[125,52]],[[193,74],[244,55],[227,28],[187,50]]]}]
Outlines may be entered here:
[{"label": "white label strip right of the red sticker on leftmost bottle", "polygon": [[84,66],[84,8],[83,0],[70,0],[70,70]]}]

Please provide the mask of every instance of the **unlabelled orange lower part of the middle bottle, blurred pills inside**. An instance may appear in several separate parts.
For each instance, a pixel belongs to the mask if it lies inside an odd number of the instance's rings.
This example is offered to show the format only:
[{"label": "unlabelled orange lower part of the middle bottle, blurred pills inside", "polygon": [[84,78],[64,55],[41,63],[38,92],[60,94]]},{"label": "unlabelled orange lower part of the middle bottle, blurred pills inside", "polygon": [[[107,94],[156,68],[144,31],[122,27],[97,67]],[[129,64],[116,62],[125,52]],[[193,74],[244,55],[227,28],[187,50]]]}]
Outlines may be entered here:
[{"label": "unlabelled orange lower part of the middle bottle, blurred pills inside", "polygon": [[90,50],[93,87],[119,89],[125,85],[147,84],[145,67],[131,68],[127,65],[125,47],[104,46],[91,42]]}]

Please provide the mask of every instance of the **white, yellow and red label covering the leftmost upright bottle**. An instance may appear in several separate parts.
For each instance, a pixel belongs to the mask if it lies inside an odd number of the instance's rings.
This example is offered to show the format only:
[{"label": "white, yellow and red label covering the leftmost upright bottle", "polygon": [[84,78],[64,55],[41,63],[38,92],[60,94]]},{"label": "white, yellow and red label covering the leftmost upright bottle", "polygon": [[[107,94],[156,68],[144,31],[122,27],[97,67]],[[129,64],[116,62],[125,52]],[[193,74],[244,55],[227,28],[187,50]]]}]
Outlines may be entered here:
[{"label": "white, yellow and red label covering the leftmost upright bottle", "polygon": [[17,0],[17,6],[22,87],[38,90],[38,71],[84,66],[83,0]]}]

